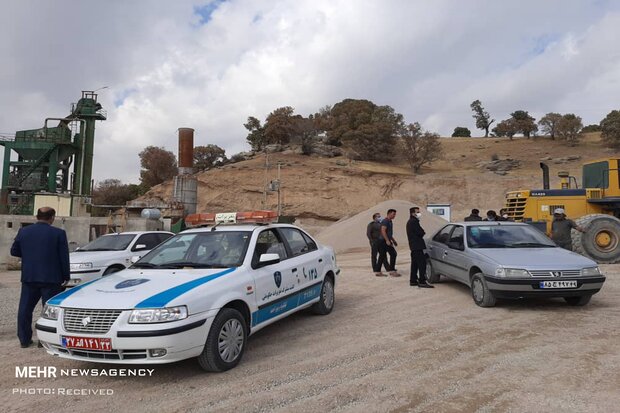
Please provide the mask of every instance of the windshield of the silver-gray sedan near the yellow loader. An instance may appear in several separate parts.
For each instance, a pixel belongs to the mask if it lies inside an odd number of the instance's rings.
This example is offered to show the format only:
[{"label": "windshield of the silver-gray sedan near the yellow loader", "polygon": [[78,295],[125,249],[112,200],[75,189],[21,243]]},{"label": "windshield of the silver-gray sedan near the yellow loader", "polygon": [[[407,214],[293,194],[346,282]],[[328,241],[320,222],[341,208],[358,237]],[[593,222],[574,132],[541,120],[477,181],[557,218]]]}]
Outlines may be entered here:
[{"label": "windshield of the silver-gray sedan near the yellow loader", "polygon": [[467,228],[470,248],[552,248],[555,243],[528,225],[477,225]]}]

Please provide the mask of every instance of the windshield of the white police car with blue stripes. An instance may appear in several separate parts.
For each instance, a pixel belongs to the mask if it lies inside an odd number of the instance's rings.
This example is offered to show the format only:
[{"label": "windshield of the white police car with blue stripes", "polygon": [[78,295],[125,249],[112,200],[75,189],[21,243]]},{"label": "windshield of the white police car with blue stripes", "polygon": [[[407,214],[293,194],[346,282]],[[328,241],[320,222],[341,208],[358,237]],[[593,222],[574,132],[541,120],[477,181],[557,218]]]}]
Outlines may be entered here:
[{"label": "windshield of the white police car with blue stripes", "polygon": [[136,262],[134,268],[230,268],[243,263],[250,231],[179,234]]}]

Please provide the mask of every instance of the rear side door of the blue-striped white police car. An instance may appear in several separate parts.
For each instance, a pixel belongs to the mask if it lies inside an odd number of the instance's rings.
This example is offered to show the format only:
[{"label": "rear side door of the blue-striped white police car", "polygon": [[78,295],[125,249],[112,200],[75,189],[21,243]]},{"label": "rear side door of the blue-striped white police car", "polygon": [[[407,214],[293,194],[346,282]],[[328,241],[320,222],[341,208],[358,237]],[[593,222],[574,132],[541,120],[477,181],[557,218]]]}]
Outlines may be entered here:
[{"label": "rear side door of the blue-striped white police car", "polygon": [[316,243],[297,228],[278,228],[278,231],[282,234],[291,257],[289,261],[297,285],[296,290],[320,284],[325,263],[320,257]]}]

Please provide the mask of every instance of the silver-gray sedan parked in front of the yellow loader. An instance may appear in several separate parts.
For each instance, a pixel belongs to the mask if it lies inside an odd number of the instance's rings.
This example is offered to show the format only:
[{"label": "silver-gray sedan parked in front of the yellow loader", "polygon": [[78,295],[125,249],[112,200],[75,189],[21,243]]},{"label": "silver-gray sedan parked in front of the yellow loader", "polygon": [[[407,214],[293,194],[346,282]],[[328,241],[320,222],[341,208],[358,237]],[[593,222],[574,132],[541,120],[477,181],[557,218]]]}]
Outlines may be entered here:
[{"label": "silver-gray sedan parked in front of the yellow loader", "polygon": [[605,282],[596,262],[558,247],[528,224],[451,223],[426,245],[429,282],[443,275],[466,284],[481,307],[522,297],[562,297],[585,305]]}]

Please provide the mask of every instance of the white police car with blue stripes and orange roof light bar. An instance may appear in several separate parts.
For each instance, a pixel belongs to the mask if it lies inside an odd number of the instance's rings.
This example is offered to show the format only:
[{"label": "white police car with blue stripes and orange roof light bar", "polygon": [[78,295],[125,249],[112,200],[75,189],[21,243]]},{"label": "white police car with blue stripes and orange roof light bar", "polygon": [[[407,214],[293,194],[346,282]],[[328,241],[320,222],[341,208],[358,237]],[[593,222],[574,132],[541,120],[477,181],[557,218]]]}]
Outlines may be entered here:
[{"label": "white police car with blue stripes and orange roof light bar", "polygon": [[[333,250],[293,225],[248,223],[272,220],[263,212],[184,231],[129,269],[56,295],[37,320],[39,340],[48,353],[75,360],[197,357],[205,370],[224,371],[259,329],[307,307],[329,314],[340,272]],[[215,216],[194,222],[204,219]]]}]

